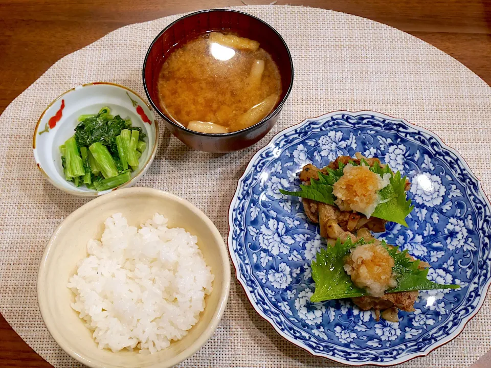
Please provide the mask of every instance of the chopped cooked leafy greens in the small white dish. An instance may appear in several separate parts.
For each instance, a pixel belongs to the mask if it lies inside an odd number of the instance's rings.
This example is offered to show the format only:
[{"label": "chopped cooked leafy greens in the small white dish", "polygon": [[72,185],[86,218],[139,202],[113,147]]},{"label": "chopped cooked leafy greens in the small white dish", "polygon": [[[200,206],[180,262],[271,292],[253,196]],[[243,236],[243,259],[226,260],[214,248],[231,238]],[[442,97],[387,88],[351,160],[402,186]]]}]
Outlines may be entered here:
[{"label": "chopped cooked leafy greens in the small white dish", "polygon": [[146,149],[142,129],[111,115],[108,107],[78,121],[75,134],[60,146],[65,179],[98,192],[129,181]]}]

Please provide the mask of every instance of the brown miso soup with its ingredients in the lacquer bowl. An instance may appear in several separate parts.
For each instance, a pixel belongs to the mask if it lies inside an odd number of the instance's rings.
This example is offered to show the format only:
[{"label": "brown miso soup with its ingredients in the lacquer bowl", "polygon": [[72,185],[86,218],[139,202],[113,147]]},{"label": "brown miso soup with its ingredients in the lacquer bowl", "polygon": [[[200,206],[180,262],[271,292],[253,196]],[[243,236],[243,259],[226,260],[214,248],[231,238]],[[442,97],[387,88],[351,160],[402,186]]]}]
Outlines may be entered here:
[{"label": "brown miso soup with its ingredients in the lacquer bowl", "polygon": [[168,118],[195,131],[226,133],[264,119],[279,102],[281,78],[259,42],[211,32],[170,54],[158,90]]}]

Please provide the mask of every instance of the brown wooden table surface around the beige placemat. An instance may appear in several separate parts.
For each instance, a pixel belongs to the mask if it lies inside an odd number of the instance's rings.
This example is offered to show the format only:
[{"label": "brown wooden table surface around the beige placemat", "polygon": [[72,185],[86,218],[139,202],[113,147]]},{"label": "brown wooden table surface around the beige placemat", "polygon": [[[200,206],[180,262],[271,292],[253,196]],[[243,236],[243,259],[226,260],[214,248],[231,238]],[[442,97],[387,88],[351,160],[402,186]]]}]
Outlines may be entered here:
[{"label": "brown wooden table surface around the beige placemat", "polygon": [[[58,59],[117,28],[209,7],[269,3],[270,0],[3,1],[0,112]],[[383,22],[435,45],[491,83],[491,0],[278,0],[276,4],[332,9]],[[1,315],[0,366],[51,367]]]}]

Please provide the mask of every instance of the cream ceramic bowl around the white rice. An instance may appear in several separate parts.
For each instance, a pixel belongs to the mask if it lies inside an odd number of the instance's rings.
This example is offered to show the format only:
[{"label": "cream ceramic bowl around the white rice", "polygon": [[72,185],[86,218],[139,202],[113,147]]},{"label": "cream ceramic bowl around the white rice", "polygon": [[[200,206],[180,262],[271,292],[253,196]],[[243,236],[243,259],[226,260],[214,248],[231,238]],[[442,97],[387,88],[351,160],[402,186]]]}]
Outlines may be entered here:
[{"label": "cream ceramic bowl around the white rice", "polygon": [[[87,241],[100,239],[105,219],[118,212],[133,226],[139,226],[158,212],[168,218],[168,227],[183,227],[196,235],[199,249],[215,277],[213,291],[206,296],[205,310],[198,323],[183,339],[153,354],[98,349],[92,332],[70,306],[75,296],[66,285],[77,270],[77,262],[87,256]],[[121,189],[101,196],[63,220],[44,251],[37,283],[41,315],[53,338],[73,358],[97,368],[164,368],[186,359],[218,325],[229,287],[230,266],[225,243],[210,219],[182,198],[147,188]]]}]

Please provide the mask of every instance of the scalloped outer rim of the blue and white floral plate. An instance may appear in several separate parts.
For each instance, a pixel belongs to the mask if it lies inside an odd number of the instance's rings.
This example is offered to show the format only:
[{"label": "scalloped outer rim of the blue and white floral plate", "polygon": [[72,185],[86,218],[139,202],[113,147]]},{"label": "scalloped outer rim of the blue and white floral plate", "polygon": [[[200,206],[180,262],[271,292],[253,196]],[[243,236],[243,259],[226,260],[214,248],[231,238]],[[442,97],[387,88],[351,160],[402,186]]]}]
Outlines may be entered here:
[{"label": "scalloped outer rim of the blue and white floral plate", "polygon": [[453,333],[449,334],[448,336],[445,336],[444,338],[442,338],[441,340],[439,340],[439,341],[437,341],[437,342],[435,342],[433,344],[430,344],[425,350],[422,350],[420,352],[410,353],[408,355],[405,355],[404,357],[394,359],[394,360],[392,360],[390,362],[372,362],[372,361],[353,362],[353,361],[349,361],[349,360],[346,360],[346,359],[342,359],[342,358],[338,358],[338,357],[333,357],[333,356],[330,356],[330,355],[327,355],[327,354],[317,353],[317,352],[313,351],[311,348],[305,346],[303,343],[298,342],[296,339],[293,339],[292,337],[284,334],[278,328],[278,326],[276,326],[273,323],[273,321],[271,320],[270,317],[267,317],[266,315],[264,315],[264,313],[261,310],[259,310],[259,308],[257,307],[256,303],[253,303],[253,300],[254,300],[253,295],[251,295],[251,293],[249,292],[248,288],[246,287],[247,285],[245,285],[244,281],[240,277],[240,273],[239,273],[239,270],[238,270],[239,267],[238,267],[238,264],[237,264],[237,260],[235,258],[235,252],[234,252],[233,247],[232,247],[232,223],[233,223],[233,221],[232,221],[232,212],[233,212],[233,206],[232,206],[232,204],[237,201],[237,197],[238,197],[238,194],[239,194],[240,185],[241,185],[242,180],[252,170],[252,168],[253,168],[253,166],[255,164],[255,161],[259,158],[259,156],[261,155],[261,153],[263,153],[264,151],[266,151],[269,148],[273,148],[275,142],[281,136],[283,136],[284,134],[286,134],[288,132],[291,132],[291,131],[293,131],[293,130],[295,130],[297,128],[300,128],[301,126],[303,126],[305,124],[308,124],[309,121],[327,119],[327,118],[330,118],[330,117],[332,117],[334,115],[337,115],[337,114],[348,114],[348,115],[351,115],[351,116],[359,116],[359,115],[364,115],[364,114],[371,114],[371,115],[377,116],[379,118],[399,121],[399,122],[401,122],[403,124],[408,125],[409,127],[413,128],[413,129],[416,129],[418,131],[421,131],[421,132],[424,132],[426,134],[429,134],[429,135],[433,136],[443,148],[448,149],[449,151],[451,151],[452,153],[454,153],[457,156],[457,158],[463,163],[465,169],[468,170],[468,173],[476,180],[477,185],[478,185],[478,189],[479,189],[479,193],[482,195],[482,197],[484,198],[484,200],[487,203],[487,205],[489,207],[491,207],[491,201],[489,200],[489,198],[487,197],[486,193],[484,192],[484,190],[482,188],[481,180],[474,174],[474,172],[469,167],[469,165],[467,164],[466,160],[460,155],[460,153],[457,152],[454,148],[452,148],[452,147],[448,146],[447,144],[445,144],[442,141],[442,139],[440,138],[440,136],[438,134],[436,134],[435,132],[433,132],[433,131],[431,131],[431,130],[429,130],[427,128],[423,128],[421,126],[418,126],[416,124],[413,124],[413,123],[407,121],[406,119],[403,119],[403,118],[395,118],[395,117],[392,117],[392,116],[390,116],[388,114],[385,114],[385,113],[382,113],[382,112],[378,112],[378,111],[373,111],[373,110],[360,110],[360,111],[336,110],[336,111],[331,111],[331,112],[322,114],[322,115],[317,116],[317,117],[306,118],[306,119],[304,119],[303,121],[301,121],[298,124],[289,126],[289,127],[285,128],[285,129],[279,131],[277,134],[275,134],[271,138],[271,140],[266,145],[264,145],[262,148],[260,148],[252,156],[252,158],[250,159],[247,167],[245,167],[244,172],[242,173],[242,175],[238,179],[237,186],[236,186],[236,189],[235,189],[235,193],[234,193],[234,195],[233,195],[233,197],[232,197],[232,199],[230,201],[230,205],[229,205],[229,211],[228,211],[229,232],[228,232],[228,236],[227,236],[227,247],[228,247],[228,250],[229,250],[230,258],[232,260],[232,265],[234,266],[234,269],[235,269],[235,277],[236,277],[237,281],[239,282],[240,286],[242,287],[242,289],[244,290],[245,294],[247,295],[248,301],[251,304],[251,306],[253,307],[253,309],[256,311],[256,313],[261,318],[263,318],[265,321],[267,321],[267,323],[269,323],[273,327],[273,329],[282,338],[284,338],[285,340],[293,343],[295,346],[297,346],[297,347],[305,350],[310,355],[313,355],[313,356],[316,356],[316,357],[321,357],[321,358],[326,358],[326,359],[329,359],[329,360],[332,360],[332,361],[335,361],[335,362],[338,362],[338,363],[342,363],[342,364],[347,364],[347,365],[350,365],[350,366],[363,366],[363,365],[368,365],[368,364],[375,365],[375,366],[394,366],[394,365],[405,363],[405,362],[410,361],[410,360],[412,360],[414,358],[428,356],[435,349],[438,349],[439,347],[443,346],[444,344],[449,343],[450,341],[454,340],[457,336],[459,336],[462,333],[462,331],[464,330],[465,326],[467,326],[467,324],[469,323],[469,321],[471,319],[473,319],[476,316],[476,314],[481,310],[481,308],[482,308],[482,306],[484,304],[484,301],[486,300],[487,292],[489,291],[489,288],[491,286],[491,277],[489,277],[487,279],[486,283],[483,285],[483,288],[481,289],[481,293],[484,294],[484,296],[481,297],[480,301],[478,302],[478,304],[476,306],[476,309],[462,321],[462,323],[460,324],[460,326]]}]

